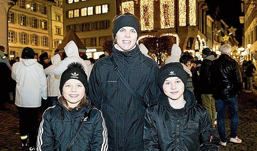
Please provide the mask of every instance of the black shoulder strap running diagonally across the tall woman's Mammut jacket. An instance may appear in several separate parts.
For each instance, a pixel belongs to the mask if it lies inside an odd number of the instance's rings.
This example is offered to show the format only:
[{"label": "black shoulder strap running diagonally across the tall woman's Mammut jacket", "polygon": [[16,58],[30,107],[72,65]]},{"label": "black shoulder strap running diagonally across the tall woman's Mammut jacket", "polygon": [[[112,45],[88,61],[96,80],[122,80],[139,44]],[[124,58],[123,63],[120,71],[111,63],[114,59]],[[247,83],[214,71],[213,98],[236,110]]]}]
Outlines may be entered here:
[{"label": "black shoulder strap running diagonally across the tall woman's Mammut jacket", "polygon": [[129,89],[129,92],[130,92],[132,95],[134,95],[135,98],[136,98],[138,101],[140,101],[140,102],[142,103],[142,105],[143,105],[145,108],[147,108],[148,105],[147,105],[146,102],[143,100],[143,98],[140,97],[139,94],[137,94],[137,93],[135,92],[135,90],[132,88],[132,86],[131,86],[128,82],[125,81],[124,77],[123,77],[122,74],[119,72],[118,66],[117,66],[117,64],[115,63],[115,60],[114,60],[112,54],[110,55],[110,60],[111,60],[111,63],[114,65],[114,68],[113,68],[114,71],[116,71],[116,73],[118,74],[119,78],[122,80],[122,82],[124,83],[124,85]]}]

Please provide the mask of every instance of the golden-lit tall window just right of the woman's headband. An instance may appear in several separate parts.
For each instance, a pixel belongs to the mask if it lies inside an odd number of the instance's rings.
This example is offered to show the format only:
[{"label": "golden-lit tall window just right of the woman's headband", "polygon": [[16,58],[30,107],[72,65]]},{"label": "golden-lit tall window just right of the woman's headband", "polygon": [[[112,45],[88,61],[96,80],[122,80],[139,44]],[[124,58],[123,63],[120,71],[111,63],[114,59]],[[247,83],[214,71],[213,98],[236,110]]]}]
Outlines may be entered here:
[{"label": "golden-lit tall window just right of the woman's headband", "polygon": [[141,31],[153,30],[153,0],[140,1]]}]

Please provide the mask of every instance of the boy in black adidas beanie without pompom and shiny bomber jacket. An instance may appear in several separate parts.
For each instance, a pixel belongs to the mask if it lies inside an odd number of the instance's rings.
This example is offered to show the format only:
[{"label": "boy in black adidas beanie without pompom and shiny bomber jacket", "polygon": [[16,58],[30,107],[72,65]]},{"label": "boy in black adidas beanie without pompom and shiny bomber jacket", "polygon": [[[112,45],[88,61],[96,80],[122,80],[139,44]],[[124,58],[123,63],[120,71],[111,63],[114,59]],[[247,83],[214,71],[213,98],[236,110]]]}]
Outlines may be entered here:
[{"label": "boy in black adidas beanie without pompom and shiny bomber jacket", "polygon": [[219,135],[207,110],[185,89],[186,72],[180,63],[159,69],[162,95],[146,110],[145,150],[219,150]]}]

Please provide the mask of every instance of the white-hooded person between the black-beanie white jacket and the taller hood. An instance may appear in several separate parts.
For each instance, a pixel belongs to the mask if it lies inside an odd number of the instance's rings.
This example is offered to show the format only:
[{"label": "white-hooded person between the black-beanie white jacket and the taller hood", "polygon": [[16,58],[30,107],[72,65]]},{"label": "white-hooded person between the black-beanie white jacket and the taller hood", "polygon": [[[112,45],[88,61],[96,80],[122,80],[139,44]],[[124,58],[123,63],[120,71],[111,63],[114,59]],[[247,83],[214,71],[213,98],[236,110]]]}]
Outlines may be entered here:
[{"label": "white-hooded person between the black-beanie white jacket and the taller hood", "polygon": [[47,103],[48,107],[53,106],[53,103],[58,100],[58,91],[60,76],[54,75],[53,71],[56,65],[61,61],[60,55],[57,53],[51,57],[52,65],[44,69],[47,76]]}]

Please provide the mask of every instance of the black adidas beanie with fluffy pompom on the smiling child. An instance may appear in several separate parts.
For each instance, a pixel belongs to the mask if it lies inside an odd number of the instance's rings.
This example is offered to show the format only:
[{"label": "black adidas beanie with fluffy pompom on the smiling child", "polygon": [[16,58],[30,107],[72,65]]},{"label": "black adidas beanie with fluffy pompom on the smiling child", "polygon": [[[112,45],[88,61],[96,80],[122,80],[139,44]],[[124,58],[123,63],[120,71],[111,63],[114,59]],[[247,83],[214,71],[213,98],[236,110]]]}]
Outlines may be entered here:
[{"label": "black adidas beanie with fluffy pompom on the smiling child", "polygon": [[81,63],[73,62],[67,66],[67,69],[63,71],[60,78],[60,92],[63,94],[63,85],[69,79],[79,80],[85,87],[85,93],[88,91],[87,74],[84,71],[84,66]]}]

